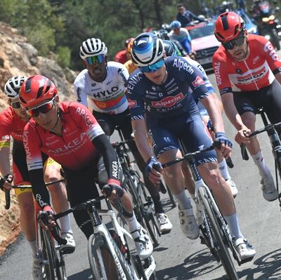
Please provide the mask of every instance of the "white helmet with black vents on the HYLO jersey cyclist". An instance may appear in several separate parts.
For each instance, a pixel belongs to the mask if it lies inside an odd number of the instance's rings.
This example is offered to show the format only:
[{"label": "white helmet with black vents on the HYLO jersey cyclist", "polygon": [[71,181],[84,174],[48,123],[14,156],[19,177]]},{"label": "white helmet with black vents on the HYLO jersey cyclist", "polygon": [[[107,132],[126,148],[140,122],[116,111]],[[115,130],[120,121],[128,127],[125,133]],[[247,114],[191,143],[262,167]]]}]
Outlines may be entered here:
[{"label": "white helmet with black vents on the HYLO jersey cyclist", "polygon": [[82,59],[89,58],[95,55],[106,55],[107,47],[100,39],[89,38],[82,43],[80,47],[80,56]]}]

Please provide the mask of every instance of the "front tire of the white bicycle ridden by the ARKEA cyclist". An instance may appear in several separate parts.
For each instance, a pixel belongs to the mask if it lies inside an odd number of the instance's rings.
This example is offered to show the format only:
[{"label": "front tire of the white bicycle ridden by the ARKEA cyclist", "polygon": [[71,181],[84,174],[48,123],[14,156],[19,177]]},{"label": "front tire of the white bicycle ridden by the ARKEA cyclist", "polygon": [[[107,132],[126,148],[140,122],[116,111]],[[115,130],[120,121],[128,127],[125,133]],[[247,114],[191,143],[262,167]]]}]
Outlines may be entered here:
[{"label": "front tire of the white bicycle ridden by the ARKEA cyclist", "polygon": [[[103,249],[103,253],[101,251]],[[110,262],[110,267],[108,266],[108,262],[104,262],[103,258],[105,258],[105,254],[107,260]],[[119,275],[118,269],[116,267],[115,260],[110,252],[110,248],[107,246],[105,239],[103,236],[92,234],[88,241],[88,257],[91,267],[91,272],[94,280],[122,280],[122,276]],[[133,280],[129,275],[129,272],[126,271],[122,260],[120,260],[120,264],[122,269],[124,270],[124,274],[126,275],[127,280]],[[108,274],[109,272],[112,272]],[[113,278],[111,278],[113,276]]]}]

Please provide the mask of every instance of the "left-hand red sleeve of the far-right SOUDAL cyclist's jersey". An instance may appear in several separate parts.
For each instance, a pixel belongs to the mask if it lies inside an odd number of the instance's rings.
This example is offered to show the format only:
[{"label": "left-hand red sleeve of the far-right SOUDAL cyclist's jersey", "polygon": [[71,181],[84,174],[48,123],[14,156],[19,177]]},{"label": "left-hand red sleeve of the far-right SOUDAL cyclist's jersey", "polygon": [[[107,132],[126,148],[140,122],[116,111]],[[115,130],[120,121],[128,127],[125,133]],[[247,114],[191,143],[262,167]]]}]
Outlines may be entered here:
[{"label": "left-hand red sleeve of the far-right SOUDAL cyclist's jersey", "polygon": [[216,84],[218,86],[219,93],[232,93],[233,88],[228,78],[228,65],[226,60],[221,57],[218,53],[214,53],[213,67],[216,76]]}]

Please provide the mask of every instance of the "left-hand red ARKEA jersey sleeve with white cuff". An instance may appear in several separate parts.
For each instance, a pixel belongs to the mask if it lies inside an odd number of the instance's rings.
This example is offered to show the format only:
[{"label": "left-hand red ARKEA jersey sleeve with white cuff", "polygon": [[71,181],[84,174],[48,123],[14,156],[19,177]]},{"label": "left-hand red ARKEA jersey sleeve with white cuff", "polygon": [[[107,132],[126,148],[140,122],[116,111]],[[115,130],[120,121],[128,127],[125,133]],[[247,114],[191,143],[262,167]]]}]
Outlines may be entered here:
[{"label": "left-hand red ARKEA jersey sleeve with white cuff", "polygon": [[28,171],[43,169],[41,140],[34,124],[27,123],[23,131],[22,140],[25,147]]}]

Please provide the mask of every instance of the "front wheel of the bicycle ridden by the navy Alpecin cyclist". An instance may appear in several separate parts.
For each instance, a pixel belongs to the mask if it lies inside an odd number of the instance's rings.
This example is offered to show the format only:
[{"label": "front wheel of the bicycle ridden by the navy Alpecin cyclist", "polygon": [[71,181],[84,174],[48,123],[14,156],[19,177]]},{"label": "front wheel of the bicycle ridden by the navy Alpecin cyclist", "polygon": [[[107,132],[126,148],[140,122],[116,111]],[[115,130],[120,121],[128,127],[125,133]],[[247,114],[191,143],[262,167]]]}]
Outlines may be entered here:
[{"label": "front wheel of the bicycle ridden by the navy Alpecin cyclist", "polygon": [[218,257],[221,260],[221,264],[223,265],[226,274],[228,275],[230,280],[238,280],[239,277],[237,275],[235,266],[233,265],[233,260],[230,257],[228,252],[228,246],[224,244],[223,239],[223,232],[219,226],[219,222],[216,219],[216,215],[214,213],[213,208],[211,207],[211,203],[208,199],[208,195],[204,187],[200,187],[199,189],[200,196],[207,213],[207,219],[211,227],[211,234],[214,239],[214,246]]}]

